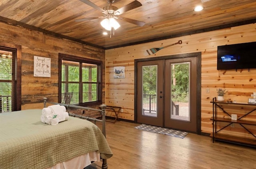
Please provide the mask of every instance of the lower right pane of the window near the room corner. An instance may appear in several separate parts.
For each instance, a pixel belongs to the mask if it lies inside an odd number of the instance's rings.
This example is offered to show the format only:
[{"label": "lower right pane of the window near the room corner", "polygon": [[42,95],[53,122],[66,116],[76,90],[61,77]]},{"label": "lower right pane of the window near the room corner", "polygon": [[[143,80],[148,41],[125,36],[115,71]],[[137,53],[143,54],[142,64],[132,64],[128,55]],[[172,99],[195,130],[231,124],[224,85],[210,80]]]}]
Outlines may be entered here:
[{"label": "lower right pane of the window near the room corner", "polygon": [[97,101],[97,84],[83,84],[83,102]]}]

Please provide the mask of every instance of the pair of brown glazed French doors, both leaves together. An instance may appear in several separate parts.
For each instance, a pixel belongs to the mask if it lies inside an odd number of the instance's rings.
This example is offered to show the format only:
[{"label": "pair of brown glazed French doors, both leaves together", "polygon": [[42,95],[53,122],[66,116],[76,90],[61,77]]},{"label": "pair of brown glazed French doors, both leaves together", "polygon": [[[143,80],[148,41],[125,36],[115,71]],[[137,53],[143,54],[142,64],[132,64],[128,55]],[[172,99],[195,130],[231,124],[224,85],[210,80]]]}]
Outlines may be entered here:
[{"label": "pair of brown glazed French doors, both leaves together", "polygon": [[198,132],[197,56],[142,60],[136,66],[137,122]]}]

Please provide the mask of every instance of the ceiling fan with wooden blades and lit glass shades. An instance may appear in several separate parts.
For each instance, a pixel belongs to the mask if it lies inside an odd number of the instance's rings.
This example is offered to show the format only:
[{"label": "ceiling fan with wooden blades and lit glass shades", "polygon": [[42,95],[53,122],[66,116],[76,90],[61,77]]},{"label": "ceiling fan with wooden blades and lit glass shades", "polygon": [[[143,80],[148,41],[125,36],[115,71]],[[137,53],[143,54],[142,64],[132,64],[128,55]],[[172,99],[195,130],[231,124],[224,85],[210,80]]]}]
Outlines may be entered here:
[{"label": "ceiling fan with wooden blades and lit glass shades", "polygon": [[134,0],[130,4],[127,4],[127,5],[125,5],[121,8],[117,8],[116,6],[112,6],[112,3],[114,3],[115,0],[107,0],[109,5],[104,6],[103,8],[100,8],[96,4],[90,2],[89,0],[80,0],[80,1],[84,2],[85,4],[87,4],[89,6],[91,6],[92,8],[95,8],[96,10],[99,10],[100,12],[102,12],[103,16],[77,19],[77,20],[75,20],[76,22],[82,22],[82,21],[86,21],[86,20],[94,20],[94,19],[99,19],[99,18],[102,18],[102,19],[105,18],[104,20],[102,20],[102,22],[100,24],[102,25],[103,28],[105,28],[106,30],[110,30],[110,31],[111,31],[112,28],[114,30],[116,30],[120,27],[120,24],[115,19],[123,20],[125,22],[129,22],[131,24],[135,24],[135,25],[138,25],[138,26],[144,26],[144,24],[145,24],[145,22],[142,22],[142,21],[138,21],[138,20],[134,20],[134,19],[125,18],[125,17],[120,16],[124,12],[127,12],[129,10],[132,10],[132,9],[135,9],[135,8],[138,8],[138,7],[142,6],[142,4],[137,0]]}]

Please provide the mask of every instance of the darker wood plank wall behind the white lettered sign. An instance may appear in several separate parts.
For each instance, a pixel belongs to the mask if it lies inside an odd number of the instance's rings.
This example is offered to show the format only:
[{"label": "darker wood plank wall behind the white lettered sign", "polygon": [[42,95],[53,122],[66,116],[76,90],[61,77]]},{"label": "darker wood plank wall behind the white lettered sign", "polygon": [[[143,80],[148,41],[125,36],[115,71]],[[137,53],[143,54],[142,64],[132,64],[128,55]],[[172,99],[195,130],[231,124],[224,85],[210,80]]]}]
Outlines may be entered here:
[{"label": "darker wood plank wall behind the white lettered sign", "polygon": [[[6,43],[22,46],[22,109],[42,108],[43,97],[58,102],[58,53],[102,60],[103,69],[105,68],[105,50],[0,22],[0,46],[5,46]],[[50,78],[34,77],[34,56],[51,58]],[[103,70],[103,103],[104,72],[105,70]]]}]

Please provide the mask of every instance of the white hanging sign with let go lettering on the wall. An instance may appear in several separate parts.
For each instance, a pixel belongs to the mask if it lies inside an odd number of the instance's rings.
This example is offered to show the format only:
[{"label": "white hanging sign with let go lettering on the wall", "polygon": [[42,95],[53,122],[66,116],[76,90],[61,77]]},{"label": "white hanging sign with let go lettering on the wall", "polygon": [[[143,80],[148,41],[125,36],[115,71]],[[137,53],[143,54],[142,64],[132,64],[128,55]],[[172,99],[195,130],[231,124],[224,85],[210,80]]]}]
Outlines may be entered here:
[{"label": "white hanging sign with let go lettering on the wall", "polygon": [[34,56],[34,77],[51,77],[51,58]]}]

